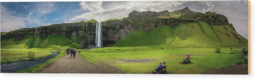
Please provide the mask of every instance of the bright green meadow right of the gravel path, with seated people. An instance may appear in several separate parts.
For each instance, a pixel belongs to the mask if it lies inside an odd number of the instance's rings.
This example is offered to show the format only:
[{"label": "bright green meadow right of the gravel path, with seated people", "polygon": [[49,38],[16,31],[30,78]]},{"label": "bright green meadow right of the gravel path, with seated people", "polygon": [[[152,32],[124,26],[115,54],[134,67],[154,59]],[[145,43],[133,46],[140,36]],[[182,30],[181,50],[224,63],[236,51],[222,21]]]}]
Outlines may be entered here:
[{"label": "bright green meadow right of the gravel path, with seated people", "polygon": [[[166,61],[169,74],[201,74],[208,69],[236,65],[240,60],[241,48],[221,48],[221,53],[214,53],[215,48],[174,48],[154,49],[150,47],[108,47],[90,51],[81,51],[80,55],[92,63],[107,63],[116,66],[124,73],[151,73],[159,61]],[[233,53],[230,53],[232,52]],[[234,53],[235,51],[235,53]],[[179,64],[189,54],[190,64]],[[144,63],[128,63],[118,59],[152,59]]]}]

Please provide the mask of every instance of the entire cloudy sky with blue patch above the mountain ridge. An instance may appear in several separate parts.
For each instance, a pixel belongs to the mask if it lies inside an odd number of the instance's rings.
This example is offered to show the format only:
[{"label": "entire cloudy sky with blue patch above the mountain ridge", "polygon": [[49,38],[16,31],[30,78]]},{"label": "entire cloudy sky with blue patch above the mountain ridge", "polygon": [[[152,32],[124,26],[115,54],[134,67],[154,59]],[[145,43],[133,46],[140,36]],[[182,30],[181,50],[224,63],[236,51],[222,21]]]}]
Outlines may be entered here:
[{"label": "entire cloudy sky with blue patch above the mountain ridge", "polygon": [[247,1],[114,1],[114,2],[1,2],[1,32],[25,27],[128,17],[129,12],[169,12],[189,7],[195,12],[225,15],[236,31],[248,39]]}]

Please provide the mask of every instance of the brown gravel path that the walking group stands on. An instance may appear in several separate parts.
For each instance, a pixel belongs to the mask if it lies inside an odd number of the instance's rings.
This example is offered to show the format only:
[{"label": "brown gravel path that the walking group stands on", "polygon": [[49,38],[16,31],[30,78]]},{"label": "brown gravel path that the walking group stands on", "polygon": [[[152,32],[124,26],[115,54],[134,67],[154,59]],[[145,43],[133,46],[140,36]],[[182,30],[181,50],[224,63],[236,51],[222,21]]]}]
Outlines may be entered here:
[{"label": "brown gravel path that the walking group stands on", "polygon": [[66,55],[35,73],[122,73],[122,71],[114,66],[96,65],[86,61],[77,53],[76,58],[70,58],[70,54]]}]

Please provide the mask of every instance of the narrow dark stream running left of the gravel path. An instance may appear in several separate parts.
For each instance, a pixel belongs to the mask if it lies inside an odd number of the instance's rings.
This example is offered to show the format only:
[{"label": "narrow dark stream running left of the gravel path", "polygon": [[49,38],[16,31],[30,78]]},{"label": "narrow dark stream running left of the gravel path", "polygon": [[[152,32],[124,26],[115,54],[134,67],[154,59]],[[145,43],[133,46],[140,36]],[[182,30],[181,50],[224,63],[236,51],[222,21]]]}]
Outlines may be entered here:
[{"label": "narrow dark stream running left of the gravel path", "polygon": [[14,63],[6,63],[1,65],[1,73],[15,73],[18,70],[33,67],[33,65],[41,65],[51,58],[57,56],[58,52],[52,52],[51,55],[39,58],[33,61],[19,61]]}]

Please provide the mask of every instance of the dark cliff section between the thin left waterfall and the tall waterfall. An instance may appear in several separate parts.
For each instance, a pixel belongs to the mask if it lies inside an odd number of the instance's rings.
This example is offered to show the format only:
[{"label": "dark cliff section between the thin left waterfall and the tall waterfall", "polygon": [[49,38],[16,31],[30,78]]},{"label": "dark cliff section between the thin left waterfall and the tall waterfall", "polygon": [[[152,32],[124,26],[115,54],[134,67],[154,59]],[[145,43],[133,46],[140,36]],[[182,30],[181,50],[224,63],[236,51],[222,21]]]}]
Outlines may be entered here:
[{"label": "dark cliff section between the thin left waterfall and the tall waterfall", "polygon": [[95,26],[95,22],[52,24],[38,27],[37,32],[42,37],[65,35],[67,39],[84,47],[92,47],[95,45]]}]

